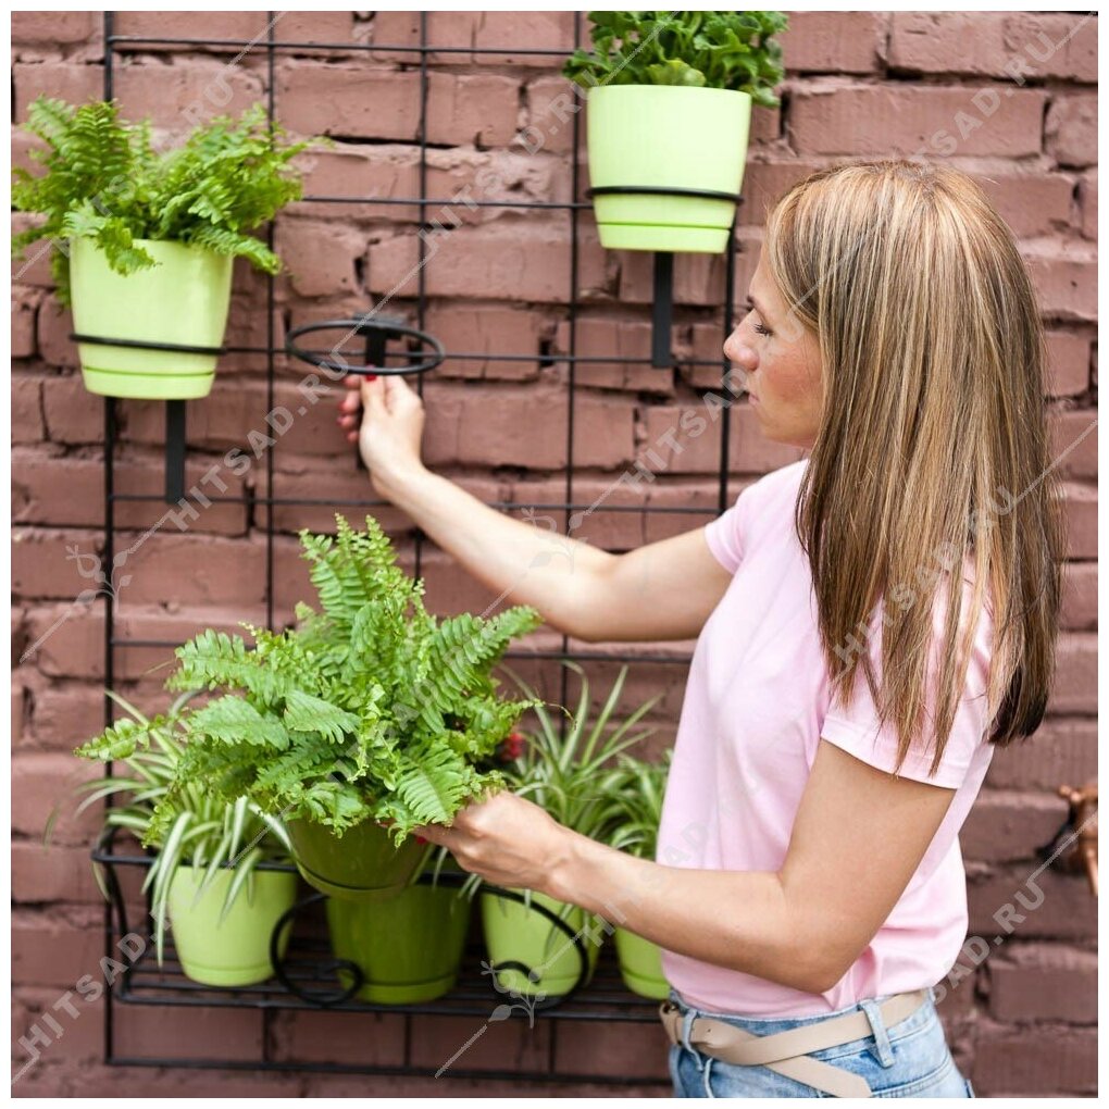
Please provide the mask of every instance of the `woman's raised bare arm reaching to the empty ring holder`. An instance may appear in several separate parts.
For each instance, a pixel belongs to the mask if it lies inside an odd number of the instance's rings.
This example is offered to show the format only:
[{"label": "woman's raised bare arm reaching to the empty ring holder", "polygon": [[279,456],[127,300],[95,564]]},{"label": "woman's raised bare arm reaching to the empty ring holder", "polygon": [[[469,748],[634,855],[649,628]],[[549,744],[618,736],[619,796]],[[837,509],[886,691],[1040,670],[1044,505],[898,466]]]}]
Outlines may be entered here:
[{"label": "woman's raised bare arm reaching to the empty ring holder", "polygon": [[731,581],[703,528],[612,554],[513,519],[424,467],[423,405],[400,378],[365,383],[362,394],[359,429],[353,391],[339,421],[358,437],[378,496],[507,602],[531,604],[553,628],[588,642],[700,633]]}]

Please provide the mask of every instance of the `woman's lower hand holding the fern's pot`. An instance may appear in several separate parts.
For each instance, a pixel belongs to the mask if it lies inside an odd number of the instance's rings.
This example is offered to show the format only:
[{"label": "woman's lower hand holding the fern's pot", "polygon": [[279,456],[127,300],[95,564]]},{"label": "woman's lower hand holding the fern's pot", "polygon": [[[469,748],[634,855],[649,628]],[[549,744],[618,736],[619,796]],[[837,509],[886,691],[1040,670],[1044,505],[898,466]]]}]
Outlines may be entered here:
[{"label": "woman's lower hand holding the fern's pot", "polygon": [[573,836],[538,805],[508,791],[467,805],[449,826],[427,824],[415,832],[446,847],[464,871],[536,893],[549,893]]}]

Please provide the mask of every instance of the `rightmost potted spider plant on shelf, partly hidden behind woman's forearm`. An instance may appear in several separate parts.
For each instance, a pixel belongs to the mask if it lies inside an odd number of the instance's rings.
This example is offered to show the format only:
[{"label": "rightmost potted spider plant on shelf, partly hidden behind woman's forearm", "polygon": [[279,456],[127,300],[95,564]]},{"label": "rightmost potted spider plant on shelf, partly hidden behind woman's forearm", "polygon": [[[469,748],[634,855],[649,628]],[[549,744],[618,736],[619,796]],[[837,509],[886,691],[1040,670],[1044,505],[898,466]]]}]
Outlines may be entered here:
[{"label": "rightmost potted spider plant on shelf, partly hidden behind woman's forearm", "polygon": [[[672,759],[671,750],[658,762],[620,755],[615,772],[607,780],[611,791],[611,802],[606,813],[610,828],[607,842],[610,847],[625,851],[637,858],[654,859],[659,843],[659,822],[662,820],[662,800],[667,792],[667,776]],[[641,997],[665,1000],[670,995],[670,984],[662,974],[662,952],[659,945],[627,928],[617,928],[613,938],[624,985]]]}]

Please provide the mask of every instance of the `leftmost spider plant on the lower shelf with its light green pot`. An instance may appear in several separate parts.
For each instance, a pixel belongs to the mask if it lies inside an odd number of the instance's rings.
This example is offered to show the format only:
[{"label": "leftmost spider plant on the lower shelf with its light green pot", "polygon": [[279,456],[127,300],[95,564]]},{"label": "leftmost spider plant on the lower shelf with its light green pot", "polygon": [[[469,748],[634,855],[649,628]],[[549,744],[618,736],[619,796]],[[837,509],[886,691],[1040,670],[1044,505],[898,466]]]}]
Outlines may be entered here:
[{"label": "leftmost spider plant on the lower shelf with its light green pot", "polygon": [[246,797],[224,801],[202,783],[179,787],[186,750],[182,713],[193,692],[153,719],[108,693],[129,715],[75,753],[122,763],[123,773],[83,783],[78,812],[112,798],[118,803],[105,810],[105,828],[126,830],[153,852],[143,892],[150,894],[159,966],[169,924],[182,970],[194,981],[265,981],[273,973],[271,933],[296,898],[282,822]]}]

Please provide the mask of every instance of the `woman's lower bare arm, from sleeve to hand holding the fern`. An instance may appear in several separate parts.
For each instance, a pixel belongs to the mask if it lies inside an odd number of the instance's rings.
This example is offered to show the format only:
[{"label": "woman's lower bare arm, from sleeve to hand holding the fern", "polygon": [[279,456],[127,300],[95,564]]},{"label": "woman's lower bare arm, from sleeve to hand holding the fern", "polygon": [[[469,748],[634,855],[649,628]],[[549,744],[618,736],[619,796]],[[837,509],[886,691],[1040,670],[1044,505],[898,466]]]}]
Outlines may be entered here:
[{"label": "woman's lower bare arm, from sleeve to hand holding the fern", "polygon": [[895,779],[822,740],[777,872],[633,858],[509,793],[421,834],[497,885],[580,905],[668,950],[822,994],[889,916],[954,795]]}]

